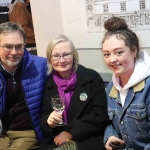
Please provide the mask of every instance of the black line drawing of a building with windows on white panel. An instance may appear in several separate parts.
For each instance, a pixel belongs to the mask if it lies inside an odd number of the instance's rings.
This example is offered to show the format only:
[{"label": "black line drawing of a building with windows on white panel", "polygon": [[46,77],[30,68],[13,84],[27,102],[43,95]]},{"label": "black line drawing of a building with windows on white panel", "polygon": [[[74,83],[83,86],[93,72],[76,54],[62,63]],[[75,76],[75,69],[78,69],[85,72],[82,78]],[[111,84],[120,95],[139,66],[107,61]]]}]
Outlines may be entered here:
[{"label": "black line drawing of a building with windows on white panel", "polygon": [[111,16],[124,18],[132,30],[150,30],[150,0],[85,0],[88,33],[103,32]]}]

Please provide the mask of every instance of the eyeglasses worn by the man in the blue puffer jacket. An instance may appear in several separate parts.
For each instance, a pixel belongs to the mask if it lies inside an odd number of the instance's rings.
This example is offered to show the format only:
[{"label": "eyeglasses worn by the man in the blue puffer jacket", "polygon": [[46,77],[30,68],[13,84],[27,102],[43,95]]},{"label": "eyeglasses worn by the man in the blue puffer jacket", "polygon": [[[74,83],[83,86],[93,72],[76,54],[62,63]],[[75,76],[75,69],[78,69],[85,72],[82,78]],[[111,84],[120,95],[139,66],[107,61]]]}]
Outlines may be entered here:
[{"label": "eyeglasses worn by the man in the blue puffer jacket", "polygon": [[25,48],[25,45],[23,44],[18,44],[18,45],[5,44],[3,46],[2,45],[0,46],[3,48],[5,52],[11,52],[14,48],[17,52],[22,52]]}]

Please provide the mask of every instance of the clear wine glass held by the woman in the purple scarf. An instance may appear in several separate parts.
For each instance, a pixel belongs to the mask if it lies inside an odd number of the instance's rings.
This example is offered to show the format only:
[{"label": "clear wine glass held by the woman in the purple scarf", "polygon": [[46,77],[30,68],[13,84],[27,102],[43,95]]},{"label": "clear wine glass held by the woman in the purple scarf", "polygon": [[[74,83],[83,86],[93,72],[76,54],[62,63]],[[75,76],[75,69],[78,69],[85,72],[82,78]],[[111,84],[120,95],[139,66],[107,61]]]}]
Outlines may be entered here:
[{"label": "clear wine glass held by the woman in the purple scarf", "polygon": [[[56,96],[52,96],[51,97],[51,104],[53,109],[59,113],[62,114],[64,109],[65,109],[65,98],[62,95],[56,95]],[[58,124],[56,124],[56,126],[64,126],[66,123],[63,119],[62,122],[59,122]]]}]

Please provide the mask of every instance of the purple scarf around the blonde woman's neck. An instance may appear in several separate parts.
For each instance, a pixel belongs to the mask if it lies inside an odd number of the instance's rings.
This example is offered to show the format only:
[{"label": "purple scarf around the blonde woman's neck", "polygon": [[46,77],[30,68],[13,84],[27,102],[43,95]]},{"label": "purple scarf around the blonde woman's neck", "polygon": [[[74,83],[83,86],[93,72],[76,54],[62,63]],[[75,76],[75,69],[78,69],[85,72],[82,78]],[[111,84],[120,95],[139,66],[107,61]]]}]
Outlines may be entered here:
[{"label": "purple scarf around the blonde woman's neck", "polygon": [[77,83],[77,74],[76,72],[72,73],[69,80],[62,79],[56,71],[53,72],[52,76],[53,76],[53,80],[55,81],[58,87],[59,95],[63,95],[65,97],[66,106],[63,115],[64,115],[64,120],[67,124],[70,101]]}]

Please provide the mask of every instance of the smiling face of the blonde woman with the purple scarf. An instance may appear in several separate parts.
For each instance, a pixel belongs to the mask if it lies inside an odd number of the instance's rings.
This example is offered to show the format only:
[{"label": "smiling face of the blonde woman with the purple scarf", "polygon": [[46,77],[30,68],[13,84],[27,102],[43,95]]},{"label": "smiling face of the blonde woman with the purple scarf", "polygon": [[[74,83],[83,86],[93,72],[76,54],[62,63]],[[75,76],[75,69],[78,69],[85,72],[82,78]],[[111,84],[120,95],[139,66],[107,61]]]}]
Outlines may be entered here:
[{"label": "smiling face of the blonde woman with the purple scarf", "polygon": [[[68,55],[68,58],[65,59]],[[52,67],[55,71],[57,71],[63,79],[69,79],[72,66],[73,66],[73,56],[72,50],[68,42],[60,42],[54,46],[52,54],[51,54],[51,63]],[[60,59],[55,61],[53,57],[60,57]]]}]

